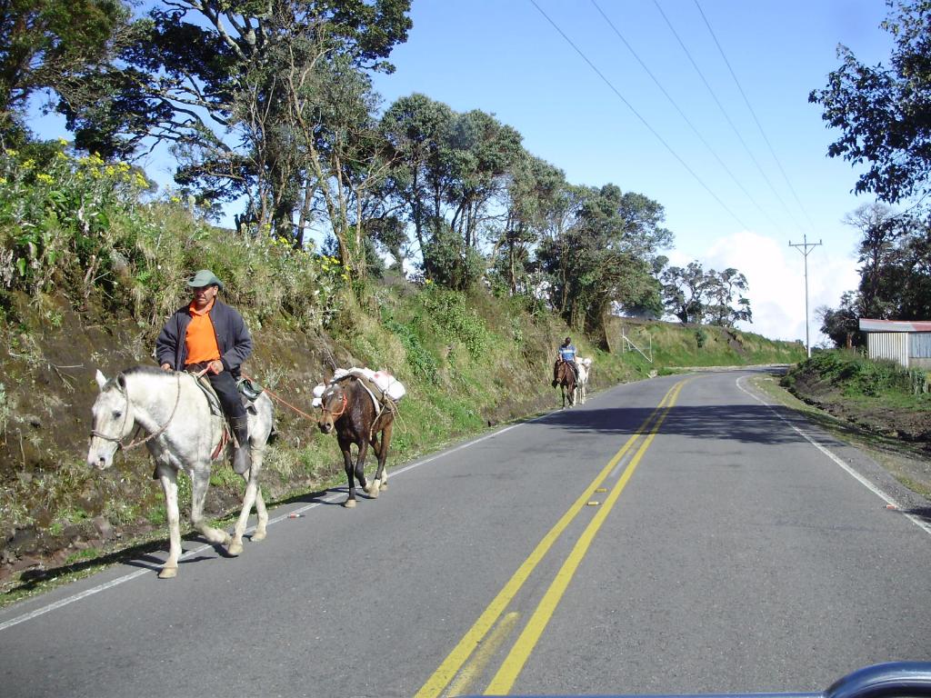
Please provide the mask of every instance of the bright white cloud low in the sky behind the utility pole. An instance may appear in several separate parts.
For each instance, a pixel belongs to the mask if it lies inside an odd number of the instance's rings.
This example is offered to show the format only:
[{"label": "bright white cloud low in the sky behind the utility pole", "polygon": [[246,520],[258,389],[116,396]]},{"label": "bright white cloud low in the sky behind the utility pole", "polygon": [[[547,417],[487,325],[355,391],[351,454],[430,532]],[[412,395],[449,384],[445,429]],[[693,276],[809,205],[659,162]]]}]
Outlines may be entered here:
[{"label": "bright white cloud low in the sky behind the utility pole", "polygon": [[[734,267],[747,277],[753,323],[746,329],[774,340],[805,339],[804,258],[796,248],[771,237],[744,232],[714,240],[695,257],[674,251],[670,263],[683,266],[697,259],[706,271]],[[812,346],[827,339],[818,331],[815,309],[837,307],[845,290],[856,289],[857,262],[850,257],[830,256],[824,248],[808,255],[808,311]]]}]

